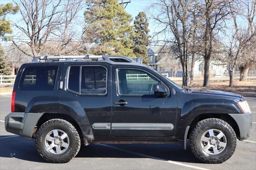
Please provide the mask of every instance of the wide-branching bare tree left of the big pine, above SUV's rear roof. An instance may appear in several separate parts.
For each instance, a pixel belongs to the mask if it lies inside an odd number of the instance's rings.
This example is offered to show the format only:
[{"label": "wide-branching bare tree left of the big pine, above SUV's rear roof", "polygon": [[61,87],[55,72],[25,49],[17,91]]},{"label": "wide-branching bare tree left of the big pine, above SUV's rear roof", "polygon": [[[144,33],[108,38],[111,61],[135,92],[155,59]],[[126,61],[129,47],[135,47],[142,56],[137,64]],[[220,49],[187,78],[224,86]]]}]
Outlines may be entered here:
[{"label": "wide-branching bare tree left of the big pine, above SUV's rear roof", "polygon": [[[74,22],[84,7],[84,0],[20,0],[14,3],[20,6],[22,20],[13,23],[19,32],[13,43],[24,54],[42,55],[48,41],[58,45],[54,50],[56,54],[72,53],[80,47],[82,35],[77,34]],[[22,45],[28,45],[31,53],[24,51]]]}]

